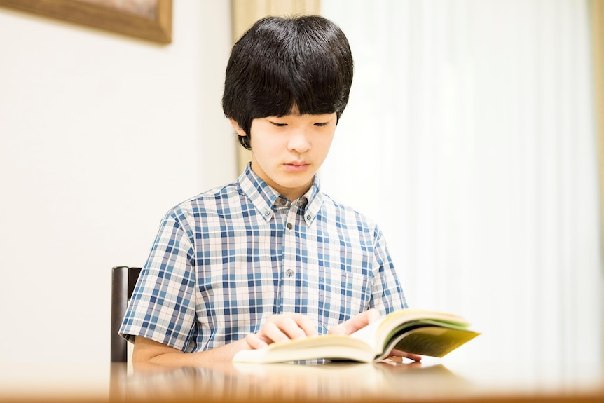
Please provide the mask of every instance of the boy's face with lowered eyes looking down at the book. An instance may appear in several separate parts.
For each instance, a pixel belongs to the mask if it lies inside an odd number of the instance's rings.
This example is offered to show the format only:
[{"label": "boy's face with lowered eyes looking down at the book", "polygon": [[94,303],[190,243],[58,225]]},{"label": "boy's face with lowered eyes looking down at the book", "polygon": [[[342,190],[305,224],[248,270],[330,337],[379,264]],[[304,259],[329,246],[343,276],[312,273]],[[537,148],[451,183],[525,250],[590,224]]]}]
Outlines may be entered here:
[{"label": "boy's face with lowered eyes looking down at the book", "polygon": [[[295,200],[313,184],[336,132],[336,113],[269,116],[252,121],[252,170],[282,196]],[[232,122],[233,123],[233,122]],[[233,123],[239,135],[245,132]]]}]

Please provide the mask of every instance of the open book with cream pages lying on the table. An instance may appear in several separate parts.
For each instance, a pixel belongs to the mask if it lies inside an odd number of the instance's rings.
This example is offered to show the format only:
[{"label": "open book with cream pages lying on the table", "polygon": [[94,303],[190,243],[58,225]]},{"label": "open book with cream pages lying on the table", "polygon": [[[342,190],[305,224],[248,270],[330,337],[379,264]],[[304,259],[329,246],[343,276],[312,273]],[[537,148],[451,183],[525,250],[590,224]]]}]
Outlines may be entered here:
[{"label": "open book with cream pages lying on the table", "polygon": [[241,350],[233,362],[289,362],[301,360],[350,360],[376,362],[388,357],[392,348],[444,357],[479,332],[469,329],[462,317],[431,310],[402,309],[349,336],[327,334],[306,339],[272,343],[257,350]]}]

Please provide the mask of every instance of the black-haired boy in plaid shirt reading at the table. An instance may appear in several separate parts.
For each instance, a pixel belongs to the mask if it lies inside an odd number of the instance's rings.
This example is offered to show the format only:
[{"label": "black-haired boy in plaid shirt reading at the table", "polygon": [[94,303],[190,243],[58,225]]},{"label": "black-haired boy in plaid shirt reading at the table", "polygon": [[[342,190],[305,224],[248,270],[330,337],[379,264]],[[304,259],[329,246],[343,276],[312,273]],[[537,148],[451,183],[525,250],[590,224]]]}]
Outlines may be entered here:
[{"label": "black-haired boy in plaid shirt reading at the table", "polygon": [[406,307],[380,229],[316,175],[351,83],[348,41],[325,18],[264,18],[235,43],[222,104],[252,161],[166,214],[120,329],[133,361],[231,360]]}]

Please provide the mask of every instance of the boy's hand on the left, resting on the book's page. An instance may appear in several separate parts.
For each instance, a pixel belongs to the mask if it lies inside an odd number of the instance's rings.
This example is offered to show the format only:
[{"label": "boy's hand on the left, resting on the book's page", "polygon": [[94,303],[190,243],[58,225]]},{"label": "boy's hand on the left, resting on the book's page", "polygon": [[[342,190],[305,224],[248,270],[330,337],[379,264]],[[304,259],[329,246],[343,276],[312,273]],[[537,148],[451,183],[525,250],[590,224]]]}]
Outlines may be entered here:
[{"label": "boy's hand on the left, resting on the book's page", "polygon": [[301,313],[283,313],[269,317],[259,332],[248,334],[245,341],[249,347],[255,349],[277,341],[304,339],[317,334],[317,329],[308,316]]}]

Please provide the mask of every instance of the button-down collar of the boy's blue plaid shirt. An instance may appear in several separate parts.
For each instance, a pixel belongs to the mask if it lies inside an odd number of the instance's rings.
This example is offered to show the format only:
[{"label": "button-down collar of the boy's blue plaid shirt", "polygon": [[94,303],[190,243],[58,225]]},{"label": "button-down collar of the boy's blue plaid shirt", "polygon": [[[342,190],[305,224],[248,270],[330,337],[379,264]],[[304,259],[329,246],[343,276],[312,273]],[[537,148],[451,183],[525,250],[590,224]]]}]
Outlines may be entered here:
[{"label": "button-down collar of the boy's blue plaid shirt", "polygon": [[[280,198],[280,194],[252,171],[251,164],[247,164],[237,182],[245,196],[249,198],[252,205],[264,217],[265,221],[270,221],[273,218],[273,206],[277,199]],[[298,206],[301,207],[307,226],[310,226],[315,217],[317,217],[323,204],[323,194],[320,188],[319,177],[315,174],[313,186],[310,186],[310,189],[298,200],[293,200],[293,203],[298,203]]]}]

